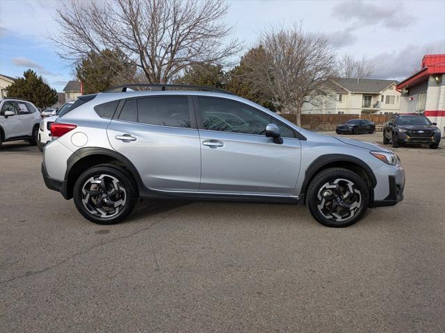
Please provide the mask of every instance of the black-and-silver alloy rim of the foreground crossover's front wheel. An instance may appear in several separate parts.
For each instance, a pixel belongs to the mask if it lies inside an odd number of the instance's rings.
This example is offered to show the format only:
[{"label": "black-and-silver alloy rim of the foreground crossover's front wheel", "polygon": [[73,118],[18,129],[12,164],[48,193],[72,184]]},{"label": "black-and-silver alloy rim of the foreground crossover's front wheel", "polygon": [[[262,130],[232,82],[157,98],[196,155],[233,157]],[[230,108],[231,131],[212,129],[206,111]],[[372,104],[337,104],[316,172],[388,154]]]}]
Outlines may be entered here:
[{"label": "black-and-silver alloy rim of the foreground crossover's front wheel", "polygon": [[341,222],[352,218],[362,205],[362,193],[354,182],[337,178],[326,182],[317,194],[318,211],[331,221]]}]

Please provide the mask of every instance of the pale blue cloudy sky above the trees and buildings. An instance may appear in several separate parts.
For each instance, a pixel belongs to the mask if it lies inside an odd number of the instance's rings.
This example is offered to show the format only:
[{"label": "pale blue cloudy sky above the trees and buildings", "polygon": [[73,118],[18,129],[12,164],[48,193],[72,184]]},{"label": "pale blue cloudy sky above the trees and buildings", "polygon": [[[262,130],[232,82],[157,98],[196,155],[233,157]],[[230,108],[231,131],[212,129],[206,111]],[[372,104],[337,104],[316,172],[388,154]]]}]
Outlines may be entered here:
[{"label": "pale blue cloudy sky above the trees and buildings", "polygon": [[[61,91],[73,69],[56,54],[47,34],[63,0],[0,0],[0,73],[35,69]],[[445,53],[445,1],[229,1],[227,24],[245,48],[272,25],[302,24],[324,33],[339,55],[366,56],[376,78],[405,78],[429,53]]]}]

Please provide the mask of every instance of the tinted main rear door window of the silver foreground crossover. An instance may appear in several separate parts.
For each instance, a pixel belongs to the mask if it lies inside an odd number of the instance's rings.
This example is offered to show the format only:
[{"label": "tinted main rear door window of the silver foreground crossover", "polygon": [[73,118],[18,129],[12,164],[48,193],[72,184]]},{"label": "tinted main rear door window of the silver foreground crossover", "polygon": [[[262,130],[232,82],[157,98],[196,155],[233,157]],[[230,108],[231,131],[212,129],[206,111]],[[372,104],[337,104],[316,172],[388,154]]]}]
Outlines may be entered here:
[{"label": "tinted main rear door window of the silver foreground crossover", "polygon": [[191,127],[187,96],[138,99],[138,121],[149,125]]}]

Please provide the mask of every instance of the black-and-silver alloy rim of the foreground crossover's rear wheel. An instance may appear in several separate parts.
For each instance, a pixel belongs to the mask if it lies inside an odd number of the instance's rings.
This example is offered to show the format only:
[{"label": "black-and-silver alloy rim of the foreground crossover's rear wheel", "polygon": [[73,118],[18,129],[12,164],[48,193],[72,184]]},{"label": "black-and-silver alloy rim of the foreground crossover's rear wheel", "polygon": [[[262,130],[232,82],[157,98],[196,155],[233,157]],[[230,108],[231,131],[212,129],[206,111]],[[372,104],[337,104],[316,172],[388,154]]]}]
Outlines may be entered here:
[{"label": "black-and-silver alloy rim of the foreground crossover's rear wheel", "polygon": [[83,206],[100,218],[116,216],[127,203],[127,191],[118,178],[108,174],[88,178],[81,191]]}]

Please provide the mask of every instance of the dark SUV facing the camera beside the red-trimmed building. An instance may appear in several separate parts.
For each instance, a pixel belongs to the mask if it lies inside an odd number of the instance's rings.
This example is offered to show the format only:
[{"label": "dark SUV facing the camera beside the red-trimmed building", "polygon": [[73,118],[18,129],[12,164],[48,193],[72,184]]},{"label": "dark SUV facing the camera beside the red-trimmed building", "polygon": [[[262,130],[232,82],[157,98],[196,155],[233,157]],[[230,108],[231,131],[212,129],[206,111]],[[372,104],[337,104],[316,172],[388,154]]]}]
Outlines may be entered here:
[{"label": "dark SUV facing the camera beside the red-trimmed building", "polygon": [[437,149],[440,129],[423,114],[396,114],[385,123],[383,143],[397,148],[401,144],[428,144]]}]

